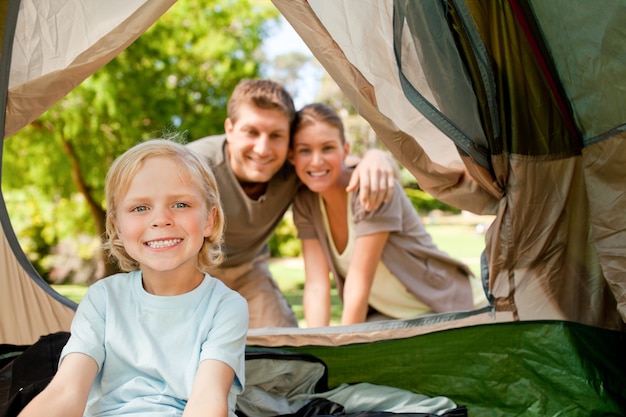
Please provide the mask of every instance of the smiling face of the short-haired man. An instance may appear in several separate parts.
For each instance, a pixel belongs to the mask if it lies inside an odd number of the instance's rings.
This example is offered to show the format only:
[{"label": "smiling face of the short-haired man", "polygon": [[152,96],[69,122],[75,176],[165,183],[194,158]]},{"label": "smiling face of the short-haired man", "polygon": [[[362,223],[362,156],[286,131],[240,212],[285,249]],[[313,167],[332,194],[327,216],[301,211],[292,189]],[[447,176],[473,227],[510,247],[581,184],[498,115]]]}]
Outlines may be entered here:
[{"label": "smiling face of the short-haired man", "polygon": [[280,170],[289,151],[289,118],[279,110],[246,103],[239,119],[226,119],[230,166],[240,182],[265,183]]}]

